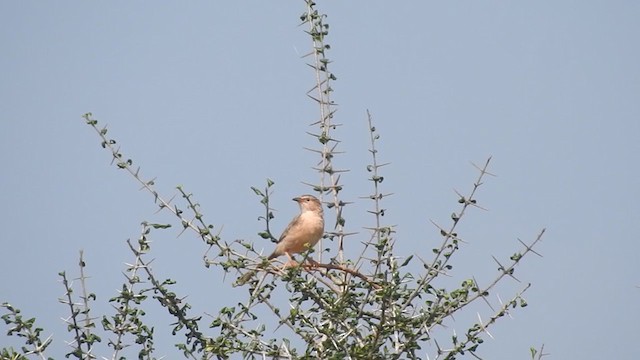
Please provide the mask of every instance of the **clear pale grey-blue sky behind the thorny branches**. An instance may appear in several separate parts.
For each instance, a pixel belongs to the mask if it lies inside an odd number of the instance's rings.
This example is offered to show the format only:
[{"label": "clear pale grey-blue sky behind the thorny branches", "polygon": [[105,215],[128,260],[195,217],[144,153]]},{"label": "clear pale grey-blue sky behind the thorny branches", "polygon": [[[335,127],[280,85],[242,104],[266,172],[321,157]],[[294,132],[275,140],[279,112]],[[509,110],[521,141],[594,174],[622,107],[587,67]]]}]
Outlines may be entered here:
[{"label": "clear pale grey-blue sky behind the thorny branches", "polygon": [[[640,3],[319,2],[329,15],[336,136],[345,154],[347,230],[371,225],[366,181],[369,109],[379,144],[386,220],[401,255],[428,254],[432,219],[457,209],[453,189],[493,156],[479,201],[459,234],[467,244],[451,279],[489,281],[491,255],[547,233],[518,268],[529,307],[500,322],[488,359],[632,359],[640,322]],[[261,241],[250,186],[276,182],[274,225],[317,181],[305,134],[317,118],[313,74],[301,55],[304,3],[0,3],[0,300],[37,316],[62,357],[65,308],[57,273],[84,249],[96,313],[131,260],[125,240],[155,215],[152,199],[109,166],[83,124],[93,112],[168,197],[194,193],[223,238]],[[196,312],[242,299],[230,278],[202,266],[191,235],[158,233],[156,271],[171,275]],[[265,251],[270,245],[264,243]],[[355,254],[353,254],[355,256]],[[445,282],[446,283],[446,282]],[[505,283],[506,299],[523,284]],[[479,308],[479,311],[486,309]],[[473,315],[473,314],[472,314]],[[158,322],[169,322],[160,310]],[[443,333],[464,330],[449,324]],[[167,344],[173,339],[165,338]],[[4,338],[2,343],[15,344]],[[433,357],[433,349],[426,349]],[[107,356],[103,348],[99,355]],[[177,357],[167,345],[158,355]]]}]

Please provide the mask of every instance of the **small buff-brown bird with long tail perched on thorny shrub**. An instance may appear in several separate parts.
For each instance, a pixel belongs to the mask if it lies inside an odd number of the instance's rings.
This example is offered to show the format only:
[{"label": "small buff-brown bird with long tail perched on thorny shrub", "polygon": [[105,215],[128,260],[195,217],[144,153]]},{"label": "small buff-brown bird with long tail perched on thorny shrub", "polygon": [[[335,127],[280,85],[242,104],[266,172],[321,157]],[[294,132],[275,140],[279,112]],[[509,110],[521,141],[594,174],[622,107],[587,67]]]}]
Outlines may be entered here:
[{"label": "small buff-brown bird with long tail perched on thorny shrub", "polygon": [[[284,267],[296,265],[297,262],[292,255],[303,253],[314,247],[324,234],[324,213],[320,200],[313,195],[300,195],[293,198],[293,201],[298,203],[300,213],[284,229],[278,239],[276,248],[267,257],[267,260],[273,260],[286,255],[289,261],[285,263]],[[308,260],[315,263],[312,259]],[[264,265],[258,266],[258,268],[263,267]],[[256,271],[252,270],[244,274],[236,281],[235,286],[243,285],[255,273]]]}]

